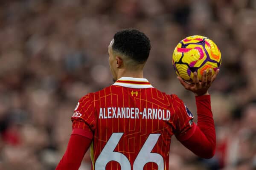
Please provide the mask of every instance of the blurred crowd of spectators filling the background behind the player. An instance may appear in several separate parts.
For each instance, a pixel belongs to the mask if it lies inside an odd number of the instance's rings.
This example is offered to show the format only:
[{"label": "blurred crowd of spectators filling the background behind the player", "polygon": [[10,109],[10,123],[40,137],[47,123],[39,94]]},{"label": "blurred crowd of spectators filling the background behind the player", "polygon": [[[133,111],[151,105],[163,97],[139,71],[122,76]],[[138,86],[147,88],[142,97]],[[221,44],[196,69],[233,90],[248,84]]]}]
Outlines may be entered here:
[{"label": "blurred crowd of spectators filling the background behind the player", "polygon": [[0,170],[55,169],[78,99],[113,83],[108,44],[130,27],[151,40],[144,77],[183,99],[195,122],[172,52],[200,34],[222,53],[210,89],[216,154],[199,159],[173,137],[169,169],[256,170],[256,0],[1,0]]}]

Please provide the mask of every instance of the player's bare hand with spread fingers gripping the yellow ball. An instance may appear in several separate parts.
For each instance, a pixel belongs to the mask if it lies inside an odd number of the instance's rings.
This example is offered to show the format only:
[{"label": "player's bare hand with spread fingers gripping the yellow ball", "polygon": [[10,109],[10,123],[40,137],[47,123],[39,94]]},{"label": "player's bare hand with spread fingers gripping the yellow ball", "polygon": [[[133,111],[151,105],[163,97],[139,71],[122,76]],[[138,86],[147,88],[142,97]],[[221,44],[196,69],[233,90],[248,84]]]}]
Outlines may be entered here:
[{"label": "player's bare hand with spread fingers gripping the yellow ball", "polygon": [[194,72],[194,79],[191,84],[185,82],[181,77],[177,77],[180,80],[180,84],[186,90],[192,91],[196,96],[208,95],[208,89],[212,85],[212,82],[216,79],[219,73],[219,69],[215,71],[215,74],[212,76],[212,69],[210,68],[208,73],[207,71],[203,72],[202,81],[198,79],[197,72]]}]

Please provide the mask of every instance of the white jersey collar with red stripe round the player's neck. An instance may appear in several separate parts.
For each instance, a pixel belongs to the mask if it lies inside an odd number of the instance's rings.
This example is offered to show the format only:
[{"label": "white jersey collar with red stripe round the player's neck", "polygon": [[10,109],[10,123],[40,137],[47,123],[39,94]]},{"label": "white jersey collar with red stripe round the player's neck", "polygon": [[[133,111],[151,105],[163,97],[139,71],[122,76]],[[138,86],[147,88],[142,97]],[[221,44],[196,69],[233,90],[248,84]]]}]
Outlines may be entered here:
[{"label": "white jersey collar with red stripe round the player's neck", "polygon": [[121,77],[113,85],[120,85],[127,88],[154,88],[147,79],[134,77]]}]

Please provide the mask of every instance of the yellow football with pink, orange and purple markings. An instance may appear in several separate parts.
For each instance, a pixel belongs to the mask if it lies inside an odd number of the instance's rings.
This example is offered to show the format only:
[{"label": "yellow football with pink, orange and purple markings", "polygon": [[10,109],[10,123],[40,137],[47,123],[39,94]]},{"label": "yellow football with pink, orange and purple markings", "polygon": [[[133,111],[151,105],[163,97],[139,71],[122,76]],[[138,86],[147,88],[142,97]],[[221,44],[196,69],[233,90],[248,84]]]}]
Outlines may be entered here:
[{"label": "yellow football with pink, orange and purple markings", "polygon": [[181,40],[172,55],[172,64],[178,76],[186,82],[193,81],[193,72],[199,80],[205,70],[212,68],[212,75],[221,65],[221,52],[207,37],[194,35]]}]

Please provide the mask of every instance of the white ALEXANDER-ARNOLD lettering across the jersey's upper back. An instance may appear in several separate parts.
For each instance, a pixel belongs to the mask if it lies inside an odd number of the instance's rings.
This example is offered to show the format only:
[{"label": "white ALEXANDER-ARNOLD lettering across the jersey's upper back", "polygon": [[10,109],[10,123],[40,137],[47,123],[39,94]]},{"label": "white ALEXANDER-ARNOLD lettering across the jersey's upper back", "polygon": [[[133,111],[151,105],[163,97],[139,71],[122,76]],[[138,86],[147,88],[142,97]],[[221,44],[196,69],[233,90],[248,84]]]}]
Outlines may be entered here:
[{"label": "white ALEXANDER-ARNOLD lettering across the jersey's upper back", "polygon": [[166,109],[143,108],[100,108],[99,119],[128,118],[128,119],[159,119],[170,120],[171,113]]}]

